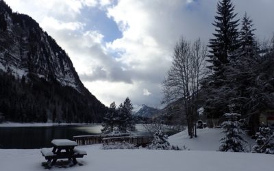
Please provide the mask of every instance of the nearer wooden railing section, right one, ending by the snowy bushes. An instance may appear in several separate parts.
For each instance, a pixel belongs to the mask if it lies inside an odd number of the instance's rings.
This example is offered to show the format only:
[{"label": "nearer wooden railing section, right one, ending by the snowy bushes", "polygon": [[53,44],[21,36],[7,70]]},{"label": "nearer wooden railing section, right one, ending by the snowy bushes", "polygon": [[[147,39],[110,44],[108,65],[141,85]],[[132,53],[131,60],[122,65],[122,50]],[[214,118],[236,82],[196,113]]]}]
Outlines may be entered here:
[{"label": "nearer wooden railing section, right one, ending by the snowy bushes", "polygon": [[153,140],[153,135],[137,135],[128,137],[105,137],[103,138],[104,144],[109,144],[110,142],[128,142],[136,146],[146,146],[150,144]]}]

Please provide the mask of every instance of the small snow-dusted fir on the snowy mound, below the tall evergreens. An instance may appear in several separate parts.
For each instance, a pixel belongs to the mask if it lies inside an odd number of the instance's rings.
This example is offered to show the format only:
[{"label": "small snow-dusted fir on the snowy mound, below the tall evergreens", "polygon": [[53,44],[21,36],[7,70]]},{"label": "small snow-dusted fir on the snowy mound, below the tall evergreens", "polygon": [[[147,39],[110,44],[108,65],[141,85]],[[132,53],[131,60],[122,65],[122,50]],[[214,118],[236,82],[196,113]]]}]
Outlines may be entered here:
[{"label": "small snow-dusted fir on the snowy mound, below the tall evergreens", "polygon": [[225,133],[225,137],[220,140],[222,144],[219,150],[244,152],[243,143],[245,140],[240,136],[242,130],[240,129],[240,122],[238,122],[240,114],[227,113],[224,116],[227,118],[227,121],[223,122],[221,126],[224,129],[223,133]]}]

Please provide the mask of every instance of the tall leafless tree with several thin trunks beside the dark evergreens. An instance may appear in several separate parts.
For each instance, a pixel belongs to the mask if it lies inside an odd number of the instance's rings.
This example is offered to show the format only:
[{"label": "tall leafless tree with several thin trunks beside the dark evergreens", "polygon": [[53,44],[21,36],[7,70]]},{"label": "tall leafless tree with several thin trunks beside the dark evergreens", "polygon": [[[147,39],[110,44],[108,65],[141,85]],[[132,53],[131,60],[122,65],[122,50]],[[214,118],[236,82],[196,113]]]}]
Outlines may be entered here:
[{"label": "tall leafless tree with several thin trunks beside the dark evergreens", "polygon": [[163,103],[183,99],[188,135],[196,136],[196,120],[201,79],[206,75],[207,48],[196,40],[193,44],[182,38],[175,46],[173,63],[162,83]]}]

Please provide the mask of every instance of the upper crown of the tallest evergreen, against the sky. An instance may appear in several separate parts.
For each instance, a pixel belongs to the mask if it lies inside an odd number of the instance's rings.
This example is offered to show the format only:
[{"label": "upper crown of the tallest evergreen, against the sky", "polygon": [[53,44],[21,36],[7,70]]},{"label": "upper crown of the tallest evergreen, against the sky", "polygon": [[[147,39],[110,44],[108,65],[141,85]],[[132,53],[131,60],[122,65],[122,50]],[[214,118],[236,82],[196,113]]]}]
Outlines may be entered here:
[{"label": "upper crown of the tallest evergreen, against the sky", "polygon": [[222,0],[217,4],[217,16],[214,25],[216,33],[213,34],[215,38],[210,39],[209,47],[211,55],[210,62],[216,74],[220,74],[223,70],[223,64],[229,63],[229,58],[232,57],[234,51],[239,47],[238,40],[238,21],[234,18],[234,5],[230,0]]}]

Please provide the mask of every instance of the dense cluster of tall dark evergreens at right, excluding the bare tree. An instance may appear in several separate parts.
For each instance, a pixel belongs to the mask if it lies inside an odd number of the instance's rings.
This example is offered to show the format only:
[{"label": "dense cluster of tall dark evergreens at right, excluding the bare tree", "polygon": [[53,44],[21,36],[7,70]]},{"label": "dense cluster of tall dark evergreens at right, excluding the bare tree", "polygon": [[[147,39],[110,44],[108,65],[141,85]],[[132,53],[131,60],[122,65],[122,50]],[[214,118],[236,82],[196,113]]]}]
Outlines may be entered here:
[{"label": "dense cluster of tall dark evergreens at right, excluding the bare tree", "polygon": [[260,45],[252,19],[247,13],[241,20],[236,16],[230,0],[219,1],[208,46],[212,73],[202,84],[207,94],[204,108],[208,118],[221,118],[234,105],[253,134],[260,114],[274,109],[274,39]]}]

